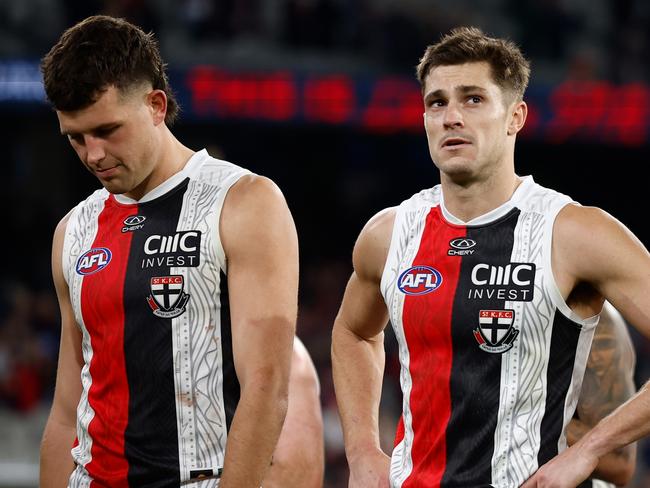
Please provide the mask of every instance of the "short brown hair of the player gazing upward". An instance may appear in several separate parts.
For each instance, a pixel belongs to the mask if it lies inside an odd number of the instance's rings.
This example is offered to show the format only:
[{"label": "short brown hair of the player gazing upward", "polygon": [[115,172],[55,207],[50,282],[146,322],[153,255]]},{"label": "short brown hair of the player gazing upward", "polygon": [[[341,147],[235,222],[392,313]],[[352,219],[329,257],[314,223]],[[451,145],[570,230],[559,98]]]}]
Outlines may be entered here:
[{"label": "short brown hair of the player gazing upward", "polygon": [[417,66],[422,90],[431,69],[464,63],[487,62],[493,81],[506,93],[521,101],[530,78],[530,63],[519,47],[507,39],[486,36],[476,27],[458,27],[427,47]]}]

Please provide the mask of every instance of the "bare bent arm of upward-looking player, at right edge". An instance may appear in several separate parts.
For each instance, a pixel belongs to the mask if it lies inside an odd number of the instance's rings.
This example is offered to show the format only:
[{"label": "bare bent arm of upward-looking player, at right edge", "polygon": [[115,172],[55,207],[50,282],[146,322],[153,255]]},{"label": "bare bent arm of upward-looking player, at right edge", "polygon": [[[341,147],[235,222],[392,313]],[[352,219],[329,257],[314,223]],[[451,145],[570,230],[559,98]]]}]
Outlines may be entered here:
[{"label": "bare bent arm of upward-looking player, at right edge", "polygon": [[[569,205],[563,209],[554,229],[553,272],[565,297],[576,286],[587,284],[595,298],[583,304],[585,309],[593,310],[607,299],[630,324],[650,337],[650,254],[616,219],[595,208]],[[591,475],[600,458],[648,434],[650,388],[646,384],[539,469],[523,488],[574,487]]]}]

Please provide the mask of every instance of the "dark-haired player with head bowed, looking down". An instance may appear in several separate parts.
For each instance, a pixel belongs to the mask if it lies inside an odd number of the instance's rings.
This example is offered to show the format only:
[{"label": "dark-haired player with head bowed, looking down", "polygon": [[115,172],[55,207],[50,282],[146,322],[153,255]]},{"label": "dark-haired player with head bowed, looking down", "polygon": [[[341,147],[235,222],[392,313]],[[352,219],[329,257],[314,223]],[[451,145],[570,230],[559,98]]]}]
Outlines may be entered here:
[{"label": "dark-haired player with head bowed, looking down", "polygon": [[[62,335],[41,486],[258,488],[287,412],[297,311],[282,193],[174,137],[158,47],[136,26],[88,18],[42,71],[103,188],[54,235]],[[317,387],[295,391],[318,405]]]}]

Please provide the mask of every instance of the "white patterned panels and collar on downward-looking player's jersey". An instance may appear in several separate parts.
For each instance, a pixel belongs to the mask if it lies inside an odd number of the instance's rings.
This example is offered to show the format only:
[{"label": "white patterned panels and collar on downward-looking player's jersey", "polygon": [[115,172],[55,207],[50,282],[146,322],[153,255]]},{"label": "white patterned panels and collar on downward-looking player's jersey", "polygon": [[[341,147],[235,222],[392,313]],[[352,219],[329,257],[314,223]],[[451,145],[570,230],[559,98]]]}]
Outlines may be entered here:
[{"label": "white patterned panels and collar on downward-looking player's jersey", "polygon": [[[199,231],[202,236],[199,266],[169,268],[169,274],[183,277],[185,292],[191,297],[185,313],[171,319],[181,486],[219,486],[217,477],[190,480],[190,472],[216,470],[224,462],[227,421],[223,391],[224,324],[221,323],[220,287],[222,273],[227,273],[227,263],[219,235],[219,221],[229,189],[248,174],[251,174],[250,171],[216,160],[203,150],[190,158],[180,173],[141,201],[149,204],[168,191],[173,191],[184,179],[189,179],[176,230]],[[82,316],[81,290],[84,277],[76,272],[75,260],[83,251],[92,248],[99,228],[98,217],[109,197],[110,194],[101,189],[75,207],[70,214],[64,239],[63,271],[70,288],[75,319],[83,335],[82,352],[85,361],[81,373],[83,389],[77,409],[79,444],[72,450],[77,464],[70,478],[72,488],[87,487],[93,481],[85,466],[92,461],[92,438],[88,428],[95,417],[88,401],[92,385],[90,364],[93,347]],[[123,195],[116,196],[116,200],[122,205],[139,203]],[[225,326],[230,325],[228,323]]]}]

